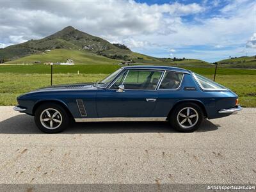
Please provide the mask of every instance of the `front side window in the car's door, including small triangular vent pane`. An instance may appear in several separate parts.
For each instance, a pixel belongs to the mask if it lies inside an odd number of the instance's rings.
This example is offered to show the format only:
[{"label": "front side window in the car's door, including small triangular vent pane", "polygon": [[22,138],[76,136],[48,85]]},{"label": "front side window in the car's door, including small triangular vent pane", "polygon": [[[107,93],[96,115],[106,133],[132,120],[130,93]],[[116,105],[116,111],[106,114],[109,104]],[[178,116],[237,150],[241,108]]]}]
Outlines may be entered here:
[{"label": "front side window in the car's door, including small triangular vent pane", "polygon": [[124,84],[125,90],[155,90],[162,72],[148,70],[129,70],[124,81],[118,78],[111,88]]}]

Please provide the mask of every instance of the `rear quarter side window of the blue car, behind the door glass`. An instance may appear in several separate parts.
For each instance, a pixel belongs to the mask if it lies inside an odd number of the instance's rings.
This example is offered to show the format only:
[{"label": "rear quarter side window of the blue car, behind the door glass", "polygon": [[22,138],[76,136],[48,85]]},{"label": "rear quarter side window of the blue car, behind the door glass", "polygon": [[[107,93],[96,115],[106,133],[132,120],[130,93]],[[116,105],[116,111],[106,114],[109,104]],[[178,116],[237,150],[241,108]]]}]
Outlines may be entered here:
[{"label": "rear quarter side window of the blue car, behind the door glass", "polygon": [[177,89],[180,86],[183,74],[177,72],[165,72],[160,89]]}]

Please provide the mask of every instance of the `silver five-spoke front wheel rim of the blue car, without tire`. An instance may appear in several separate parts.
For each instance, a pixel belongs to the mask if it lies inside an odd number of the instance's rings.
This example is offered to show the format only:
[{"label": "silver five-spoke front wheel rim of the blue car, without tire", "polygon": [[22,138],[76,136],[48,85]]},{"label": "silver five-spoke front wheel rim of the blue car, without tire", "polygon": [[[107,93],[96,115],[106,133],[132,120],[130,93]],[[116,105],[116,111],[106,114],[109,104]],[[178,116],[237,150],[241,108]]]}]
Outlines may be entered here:
[{"label": "silver five-spoke front wheel rim of the blue car, without tire", "polygon": [[46,129],[57,129],[62,123],[61,113],[57,109],[45,109],[40,115],[40,122]]}]

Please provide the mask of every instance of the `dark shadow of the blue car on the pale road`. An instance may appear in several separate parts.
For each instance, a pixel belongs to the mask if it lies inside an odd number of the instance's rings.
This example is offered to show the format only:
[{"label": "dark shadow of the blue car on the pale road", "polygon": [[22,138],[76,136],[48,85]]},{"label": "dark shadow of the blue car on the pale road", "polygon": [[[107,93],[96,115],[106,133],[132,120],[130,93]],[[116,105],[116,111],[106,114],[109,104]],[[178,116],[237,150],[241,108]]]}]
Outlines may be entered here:
[{"label": "dark shadow of the blue car on the pale road", "polygon": [[[204,120],[196,132],[215,131],[220,125]],[[62,134],[177,132],[168,122],[86,122],[70,125]],[[0,122],[0,134],[42,134],[33,116],[16,115]]]}]

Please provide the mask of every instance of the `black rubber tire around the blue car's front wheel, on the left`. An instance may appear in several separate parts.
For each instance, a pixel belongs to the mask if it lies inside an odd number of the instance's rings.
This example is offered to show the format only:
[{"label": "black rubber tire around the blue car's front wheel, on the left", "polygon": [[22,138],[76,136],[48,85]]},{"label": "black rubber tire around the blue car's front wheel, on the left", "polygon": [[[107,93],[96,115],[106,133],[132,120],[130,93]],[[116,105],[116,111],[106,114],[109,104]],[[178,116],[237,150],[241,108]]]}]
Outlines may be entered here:
[{"label": "black rubber tire around the blue car's front wheel, on the left", "polygon": [[[47,111],[45,110],[47,110],[50,113],[51,117],[47,115]],[[54,120],[53,119],[51,120],[52,116],[54,116],[54,113],[56,111],[58,111],[56,117],[54,118]],[[47,118],[49,118],[49,120],[41,121],[41,115],[42,115],[42,119],[44,118],[44,120],[46,120]],[[55,121],[59,121],[59,122],[55,122]],[[68,116],[67,111],[58,104],[43,103],[40,106],[38,106],[38,108],[36,108],[35,124],[38,127],[38,129],[40,129],[42,132],[57,133],[57,132],[64,131],[68,127],[68,125],[70,124],[70,116]],[[49,127],[49,129],[47,129],[47,127]]]}]

